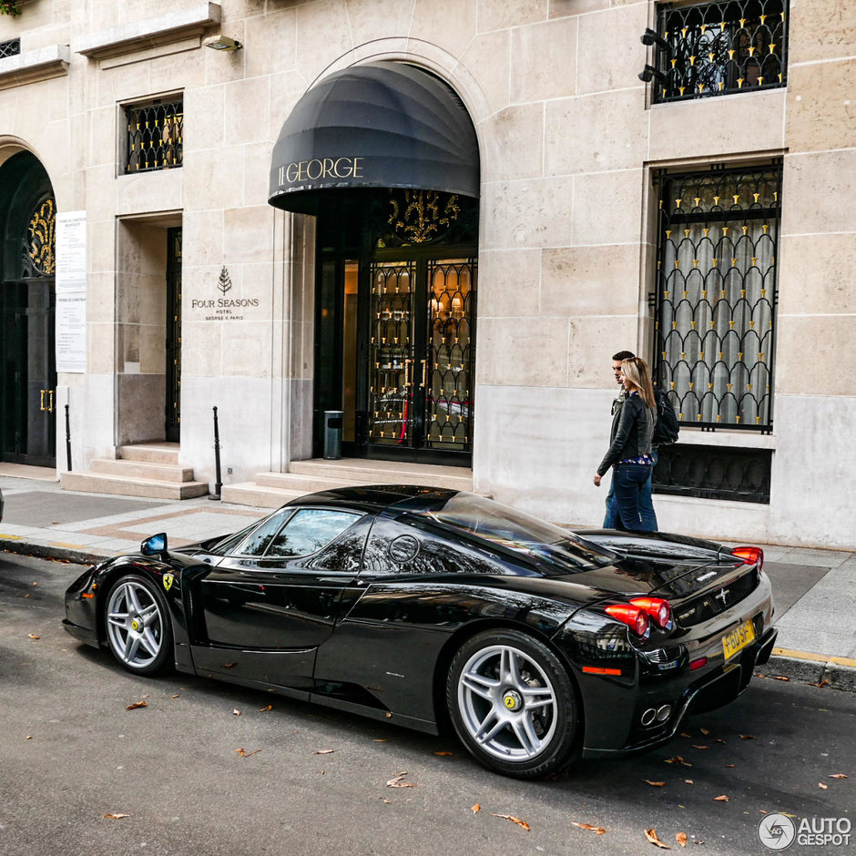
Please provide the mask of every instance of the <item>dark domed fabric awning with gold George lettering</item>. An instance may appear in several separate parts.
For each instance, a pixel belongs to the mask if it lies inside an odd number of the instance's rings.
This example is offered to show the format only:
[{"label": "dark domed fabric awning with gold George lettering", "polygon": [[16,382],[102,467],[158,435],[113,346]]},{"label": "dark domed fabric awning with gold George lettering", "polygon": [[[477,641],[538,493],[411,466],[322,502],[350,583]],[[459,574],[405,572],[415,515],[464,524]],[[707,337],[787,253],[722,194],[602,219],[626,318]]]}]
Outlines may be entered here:
[{"label": "dark domed fabric awning with gold George lettering", "polygon": [[291,111],[273,148],[276,208],[317,210],[330,189],[443,190],[478,198],[475,129],[453,90],[404,63],[352,66]]}]

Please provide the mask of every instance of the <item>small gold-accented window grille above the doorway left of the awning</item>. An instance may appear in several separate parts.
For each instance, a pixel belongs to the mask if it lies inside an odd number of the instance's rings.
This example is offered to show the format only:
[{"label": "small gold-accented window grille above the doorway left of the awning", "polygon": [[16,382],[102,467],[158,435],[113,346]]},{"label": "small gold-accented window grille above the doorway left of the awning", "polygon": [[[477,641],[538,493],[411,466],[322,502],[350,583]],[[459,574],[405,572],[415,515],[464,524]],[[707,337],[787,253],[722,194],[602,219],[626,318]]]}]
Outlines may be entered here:
[{"label": "small gold-accented window grille above the doorway left of the awning", "polygon": [[182,100],[126,108],[125,172],[180,167],[184,144]]}]

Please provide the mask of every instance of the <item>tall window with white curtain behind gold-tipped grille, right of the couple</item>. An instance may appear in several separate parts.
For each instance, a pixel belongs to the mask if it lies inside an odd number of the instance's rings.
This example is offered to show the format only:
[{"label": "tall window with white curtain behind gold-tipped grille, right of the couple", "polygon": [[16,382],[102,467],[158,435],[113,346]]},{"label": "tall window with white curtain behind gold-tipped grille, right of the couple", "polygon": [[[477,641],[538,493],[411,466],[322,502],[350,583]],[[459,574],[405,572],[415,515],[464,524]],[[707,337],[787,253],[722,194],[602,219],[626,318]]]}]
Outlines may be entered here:
[{"label": "tall window with white curtain behind gold-tipped grille, right of the couple", "polygon": [[780,165],[658,180],[657,384],[683,424],[769,433]]}]

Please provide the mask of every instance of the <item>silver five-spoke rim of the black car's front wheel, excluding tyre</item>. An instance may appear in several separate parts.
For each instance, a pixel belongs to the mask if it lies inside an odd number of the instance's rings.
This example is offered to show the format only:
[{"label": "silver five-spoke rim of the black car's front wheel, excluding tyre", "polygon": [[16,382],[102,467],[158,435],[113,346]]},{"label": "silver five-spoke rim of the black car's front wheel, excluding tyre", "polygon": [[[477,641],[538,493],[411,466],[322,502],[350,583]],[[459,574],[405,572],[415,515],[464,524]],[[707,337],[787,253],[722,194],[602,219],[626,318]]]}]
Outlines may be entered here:
[{"label": "silver five-spoke rim of the black car's front wheel, excluding tyre", "polygon": [[107,637],[127,667],[141,669],[155,661],[163,643],[163,622],[146,586],[126,580],[114,589],[107,604]]}]

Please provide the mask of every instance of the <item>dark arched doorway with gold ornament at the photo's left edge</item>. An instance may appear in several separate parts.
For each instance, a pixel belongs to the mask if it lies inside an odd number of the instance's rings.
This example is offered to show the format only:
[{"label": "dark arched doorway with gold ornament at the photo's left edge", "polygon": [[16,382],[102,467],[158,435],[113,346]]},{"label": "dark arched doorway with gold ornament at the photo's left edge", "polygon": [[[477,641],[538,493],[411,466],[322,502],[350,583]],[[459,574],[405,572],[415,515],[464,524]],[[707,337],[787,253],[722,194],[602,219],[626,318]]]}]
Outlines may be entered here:
[{"label": "dark arched doorway with gold ornament at the photo's left edge", "polygon": [[56,200],[29,152],[0,167],[0,460],[56,466]]}]

